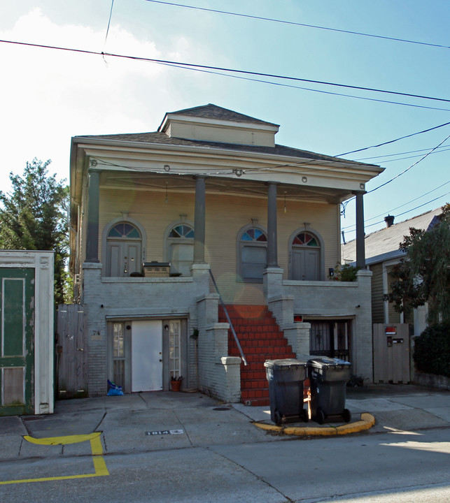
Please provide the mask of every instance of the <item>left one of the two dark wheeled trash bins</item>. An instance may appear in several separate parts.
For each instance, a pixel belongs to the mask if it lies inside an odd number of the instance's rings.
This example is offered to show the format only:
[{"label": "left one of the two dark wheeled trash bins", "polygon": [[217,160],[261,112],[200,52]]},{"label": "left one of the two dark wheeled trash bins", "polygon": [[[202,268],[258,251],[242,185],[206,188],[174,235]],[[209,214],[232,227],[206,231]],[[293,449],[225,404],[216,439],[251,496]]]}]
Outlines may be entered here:
[{"label": "left one of the two dark wheeled trash bins", "polygon": [[303,386],[307,379],[307,362],[286,358],[285,360],[267,360],[266,377],[269,381],[270,418],[280,425],[308,421],[308,412],[304,409]]}]

